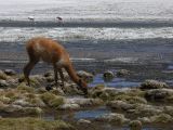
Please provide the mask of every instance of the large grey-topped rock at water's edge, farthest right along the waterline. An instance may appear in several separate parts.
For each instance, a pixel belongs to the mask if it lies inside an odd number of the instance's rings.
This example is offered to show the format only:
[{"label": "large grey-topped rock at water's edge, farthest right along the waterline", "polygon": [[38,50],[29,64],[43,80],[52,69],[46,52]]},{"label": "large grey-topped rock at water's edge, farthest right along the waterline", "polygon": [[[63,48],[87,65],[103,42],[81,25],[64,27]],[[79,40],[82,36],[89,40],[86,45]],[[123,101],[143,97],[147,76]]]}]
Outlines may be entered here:
[{"label": "large grey-topped rock at water's edge, farthest right along the waterline", "polygon": [[168,88],[168,84],[165,82],[157,80],[145,80],[141,84],[141,89],[161,89],[161,88]]}]

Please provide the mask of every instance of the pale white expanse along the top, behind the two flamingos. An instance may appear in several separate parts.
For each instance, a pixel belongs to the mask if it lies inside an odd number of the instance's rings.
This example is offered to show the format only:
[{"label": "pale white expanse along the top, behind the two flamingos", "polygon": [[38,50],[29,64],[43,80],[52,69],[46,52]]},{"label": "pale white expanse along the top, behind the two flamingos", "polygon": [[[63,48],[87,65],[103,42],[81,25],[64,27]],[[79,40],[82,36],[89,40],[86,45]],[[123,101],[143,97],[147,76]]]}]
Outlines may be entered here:
[{"label": "pale white expanse along the top, behind the two flamingos", "polygon": [[0,0],[0,20],[132,18],[172,20],[170,0]]}]

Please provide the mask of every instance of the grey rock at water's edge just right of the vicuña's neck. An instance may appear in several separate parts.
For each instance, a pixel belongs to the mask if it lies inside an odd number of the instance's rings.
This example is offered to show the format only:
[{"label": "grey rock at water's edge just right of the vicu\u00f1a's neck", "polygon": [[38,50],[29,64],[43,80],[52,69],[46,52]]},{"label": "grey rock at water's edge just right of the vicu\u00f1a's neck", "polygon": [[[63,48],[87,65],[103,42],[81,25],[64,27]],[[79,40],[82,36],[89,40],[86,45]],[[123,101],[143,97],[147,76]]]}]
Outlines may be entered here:
[{"label": "grey rock at water's edge just right of the vicu\u00f1a's neck", "polygon": [[79,77],[81,77],[82,79],[84,79],[85,81],[92,81],[93,78],[94,78],[94,76],[93,76],[92,74],[86,73],[86,72],[84,72],[84,70],[79,70],[79,72],[77,72],[77,75],[78,75]]}]

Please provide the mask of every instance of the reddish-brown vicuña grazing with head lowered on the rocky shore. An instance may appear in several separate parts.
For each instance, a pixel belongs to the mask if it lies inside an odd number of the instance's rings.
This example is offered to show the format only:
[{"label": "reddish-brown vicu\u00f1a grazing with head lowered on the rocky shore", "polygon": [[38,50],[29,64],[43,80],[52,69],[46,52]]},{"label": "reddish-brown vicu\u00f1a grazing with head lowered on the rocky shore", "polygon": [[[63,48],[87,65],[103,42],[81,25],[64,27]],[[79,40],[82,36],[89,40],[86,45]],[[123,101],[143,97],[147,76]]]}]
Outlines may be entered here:
[{"label": "reddish-brown vicu\u00f1a grazing with head lowered on the rocky shore", "polygon": [[84,94],[88,94],[88,84],[77,76],[67,51],[58,42],[49,38],[37,37],[27,42],[26,50],[29,56],[29,62],[24,67],[24,76],[29,86],[30,70],[40,60],[42,60],[53,65],[56,84],[58,78],[57,73],[59,73],[64,86],[64,75],[62,68],[65,68],[71,80],[80,87]]}]

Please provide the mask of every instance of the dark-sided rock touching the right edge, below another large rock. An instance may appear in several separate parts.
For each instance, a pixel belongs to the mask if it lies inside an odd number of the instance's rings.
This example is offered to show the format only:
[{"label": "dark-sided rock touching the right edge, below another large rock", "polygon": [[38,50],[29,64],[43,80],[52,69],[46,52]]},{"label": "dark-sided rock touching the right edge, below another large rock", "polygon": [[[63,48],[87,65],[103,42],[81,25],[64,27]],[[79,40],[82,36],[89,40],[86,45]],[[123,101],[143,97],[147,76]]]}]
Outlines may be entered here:
[{"label": "dark-sided rock touching the right edge, below another large rock", "polygon": [[173,95],[173,90],[171,89],[154,89],[154,90],[148,90],[145,93],[145,99],[148,101],[159,101],[159,102],[169,102],[170,96]]}]

